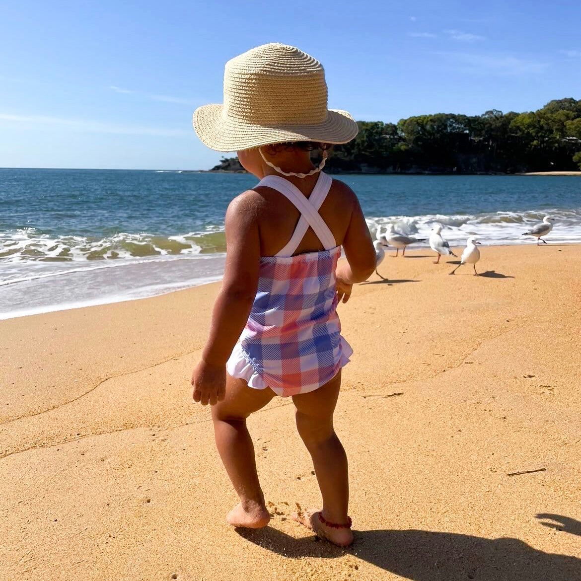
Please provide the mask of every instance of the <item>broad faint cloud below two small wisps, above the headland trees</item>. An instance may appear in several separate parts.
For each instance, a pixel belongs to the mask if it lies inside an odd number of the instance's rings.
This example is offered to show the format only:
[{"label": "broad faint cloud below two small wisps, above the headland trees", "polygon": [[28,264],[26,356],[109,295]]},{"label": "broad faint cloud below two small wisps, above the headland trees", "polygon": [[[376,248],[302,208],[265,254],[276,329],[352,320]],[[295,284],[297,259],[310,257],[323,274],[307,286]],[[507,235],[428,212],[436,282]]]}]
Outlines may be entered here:
[{"label": "broad faint cloud below two small wisps, above the headland trees", "polygon": [[466,52],[439,52],[457,68],[467,73],[492,74],[500,77],[516,77],[543,74],[549,66],[540,60],[517,59],[504,55],[476,55]]}]

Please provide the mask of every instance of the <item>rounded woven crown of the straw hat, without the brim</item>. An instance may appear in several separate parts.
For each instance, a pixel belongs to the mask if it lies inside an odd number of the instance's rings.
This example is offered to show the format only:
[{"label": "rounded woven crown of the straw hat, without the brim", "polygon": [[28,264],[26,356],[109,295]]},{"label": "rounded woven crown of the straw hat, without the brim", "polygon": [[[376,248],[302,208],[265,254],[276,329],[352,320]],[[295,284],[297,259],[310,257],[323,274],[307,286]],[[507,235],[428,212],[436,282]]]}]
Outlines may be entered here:
[{"label": "rounded woven crown of the straw hat, without the brim", "polygon": [[257,46],[226,63],[222,114],[224,119],[263,127],[324,123],[325,71],[295,46]]}]

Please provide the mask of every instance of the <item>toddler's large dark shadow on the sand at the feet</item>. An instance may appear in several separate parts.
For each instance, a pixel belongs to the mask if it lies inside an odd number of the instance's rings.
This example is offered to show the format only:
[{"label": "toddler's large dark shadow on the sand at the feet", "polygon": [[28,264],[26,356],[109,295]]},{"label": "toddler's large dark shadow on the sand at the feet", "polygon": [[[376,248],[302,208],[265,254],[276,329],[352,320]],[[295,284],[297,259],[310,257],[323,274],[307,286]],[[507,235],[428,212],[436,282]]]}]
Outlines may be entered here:
[{"label": "toddler's large dark shadow on the sand at the feet", "polygon": [[431,530],[362,530],[354,531],[355,541],[345,549],[315,536],[295,539],[270,526],[236,530],[251,543],[284,557],[332,559],[350,554],[413,581],[581,579],[581,559],[544,553],[519,539],[484,539]]}]

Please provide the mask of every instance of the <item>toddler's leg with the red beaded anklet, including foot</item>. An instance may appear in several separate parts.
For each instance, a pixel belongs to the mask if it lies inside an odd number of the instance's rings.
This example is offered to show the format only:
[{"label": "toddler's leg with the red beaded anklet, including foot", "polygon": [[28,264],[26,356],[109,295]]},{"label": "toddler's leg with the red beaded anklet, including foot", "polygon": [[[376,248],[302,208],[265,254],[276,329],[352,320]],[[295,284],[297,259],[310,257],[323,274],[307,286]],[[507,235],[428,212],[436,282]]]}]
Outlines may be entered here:
[{"label": "toddler's leg with the red beaded anklet, including foot", "polygon": [[[339,397],[341,372],[328,383],[293,397],[296,406],[296,426],[307,450],[313,458],[313,465],[323,506],[321,515],[325,521],[345,525],[349,504],[349,476],[347,456],[335,430],[333,411]],[[332,543],[347,546],[353,541],[349,528],[332,528],[324,525],[318,512],[307,515],[307,526],[326,537]]]}]

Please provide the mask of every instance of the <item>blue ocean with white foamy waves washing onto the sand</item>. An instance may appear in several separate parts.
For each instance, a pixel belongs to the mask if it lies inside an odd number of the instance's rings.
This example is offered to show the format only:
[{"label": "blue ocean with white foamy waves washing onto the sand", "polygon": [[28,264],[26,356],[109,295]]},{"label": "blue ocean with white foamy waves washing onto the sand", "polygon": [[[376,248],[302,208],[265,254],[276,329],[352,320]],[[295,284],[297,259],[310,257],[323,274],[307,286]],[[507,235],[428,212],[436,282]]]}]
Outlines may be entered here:
[{"label": "blue ocean with white foamy waves washing onto the sand", "polygon": [[[388,223],[417,238],[439,222],[451,246],[581,243],[581,178],[340,175],[372,235]],[[249,174],[0,168],[0,319],[160,295],[217,281],[224,213]],[[414,245],[421,248],[422,244]],[[411,247],[413,248],[413,247]]]}]

